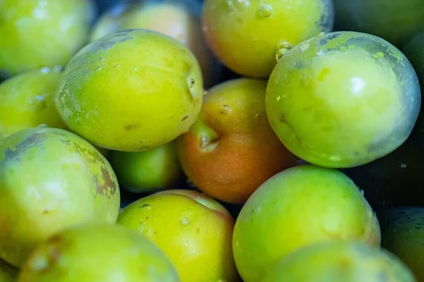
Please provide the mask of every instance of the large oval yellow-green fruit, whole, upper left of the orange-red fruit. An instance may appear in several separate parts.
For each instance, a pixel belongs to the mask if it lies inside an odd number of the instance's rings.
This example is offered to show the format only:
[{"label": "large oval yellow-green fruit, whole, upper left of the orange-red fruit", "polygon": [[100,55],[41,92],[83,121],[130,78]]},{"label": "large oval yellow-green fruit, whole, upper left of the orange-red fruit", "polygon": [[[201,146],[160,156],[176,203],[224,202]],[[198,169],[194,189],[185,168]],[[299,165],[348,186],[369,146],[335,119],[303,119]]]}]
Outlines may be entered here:
[{"label": "large oval yellow-green fruit, whole, upper left of the orange-red fruit", "polygon": [[124,30],[71,59],[54,102],[66,125],[98,147],[139,152],[189,130],[202,99],[189,49],[157,32]]}]

